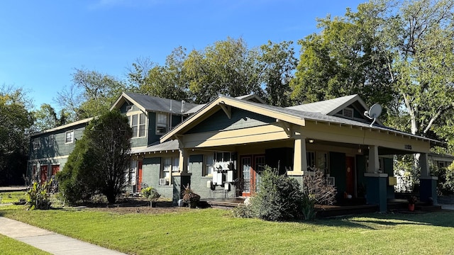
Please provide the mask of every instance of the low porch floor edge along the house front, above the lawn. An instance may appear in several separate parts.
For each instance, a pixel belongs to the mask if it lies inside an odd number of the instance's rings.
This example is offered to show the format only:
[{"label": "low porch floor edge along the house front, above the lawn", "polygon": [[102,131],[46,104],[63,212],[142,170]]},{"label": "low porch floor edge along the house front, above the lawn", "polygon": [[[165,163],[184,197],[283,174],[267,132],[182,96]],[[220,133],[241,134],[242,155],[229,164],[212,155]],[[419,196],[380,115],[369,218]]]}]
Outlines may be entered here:
[{"label": "low porch floor edge along the house front, above the lawn", "polygon": [[[215,198],[202,199],[202,203],[206,203],[211,208],[232,209],[238,205],[242,205],[244,198]],[[403,199],[388,200],[387,209],[391,212],[408,212],[421,213],[441,210],[441,205],[426,205],[424,203],[416,203],[415,211],[408,210],[408,203]],[[378,205],[316,205],[317,217],[336,217],[341,215],[353,215],[367,212],[377,212]]]}]

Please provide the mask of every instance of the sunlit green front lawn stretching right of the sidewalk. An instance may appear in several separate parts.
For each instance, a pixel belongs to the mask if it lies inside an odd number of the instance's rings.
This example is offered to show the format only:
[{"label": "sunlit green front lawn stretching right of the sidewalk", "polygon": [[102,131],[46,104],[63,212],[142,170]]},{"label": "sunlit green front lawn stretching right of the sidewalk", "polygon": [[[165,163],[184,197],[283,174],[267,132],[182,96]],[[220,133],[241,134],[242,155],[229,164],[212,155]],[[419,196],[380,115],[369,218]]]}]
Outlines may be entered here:
[{"label": "sunlit green front lawn stretching right of the sidewalk", "polygon": [[215,209],[152,215],[23,208],[2,206],[0,215],[129,254],[454,253],[454,212],[265,222]]}]

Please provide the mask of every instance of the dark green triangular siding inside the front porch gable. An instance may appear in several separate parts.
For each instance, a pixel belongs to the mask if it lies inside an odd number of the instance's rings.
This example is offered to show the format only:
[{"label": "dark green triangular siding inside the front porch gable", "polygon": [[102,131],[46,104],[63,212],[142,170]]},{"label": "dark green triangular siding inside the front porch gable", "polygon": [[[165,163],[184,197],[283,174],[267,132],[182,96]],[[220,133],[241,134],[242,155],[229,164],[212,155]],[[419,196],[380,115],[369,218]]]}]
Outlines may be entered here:
[{"label": "dark green triangular siding inside the front porch gable", "polygon": [[268,123],[274,123],[275,118],[270,118],[258,113],[251,113],[237,108],[231,110],[232,118],[227,118],[222,110],[217,111],[199,125],[189,130],[187,133],[210,132],[218,130],[235,130],[240,128],[251,128]]}]

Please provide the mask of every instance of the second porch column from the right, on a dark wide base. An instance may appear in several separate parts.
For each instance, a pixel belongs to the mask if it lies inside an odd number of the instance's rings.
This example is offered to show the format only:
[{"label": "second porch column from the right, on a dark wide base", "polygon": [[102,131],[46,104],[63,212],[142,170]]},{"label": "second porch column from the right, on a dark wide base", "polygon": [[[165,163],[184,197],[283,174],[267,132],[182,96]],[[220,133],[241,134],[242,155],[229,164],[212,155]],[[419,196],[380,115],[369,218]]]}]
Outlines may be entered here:
[{"label": "second porch column from the right, on a dark wide base", "polygon": [[366,200],[368,204],[376,204],[380,212],[387,211],[388,174],[380,174],[378,146],[369,146],[369,166],[364,174],[366,181]]}]

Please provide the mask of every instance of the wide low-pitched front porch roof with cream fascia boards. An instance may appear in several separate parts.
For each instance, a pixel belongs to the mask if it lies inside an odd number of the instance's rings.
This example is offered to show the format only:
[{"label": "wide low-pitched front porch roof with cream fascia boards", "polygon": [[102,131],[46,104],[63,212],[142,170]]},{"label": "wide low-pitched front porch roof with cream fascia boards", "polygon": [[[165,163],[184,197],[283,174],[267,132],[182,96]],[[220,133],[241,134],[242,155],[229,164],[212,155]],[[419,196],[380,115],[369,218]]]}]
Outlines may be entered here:
[{"label": "wide low-pitched front porch roof with cream fascia boards", "polygon": [[[354,95],[353,98],[355,98]],[[352,100],[352,98],[345,100],[343,105],[348,103],[349,101]],[[362,101],[362,100],[361,100]],[[363,102],[364,103],[364,102]],[[163,135],[160,139],[161,142],[165,142],[167,140],[171,140],[172,137],[175,137],[179,132],[185,132],[186,130],[189,130],[189,128],[192,128],[193,125],[196,125],[199,123],[201,120],[204,120],[206,118],[203,118],[204,115],[210,115],[211,113],[214,113],[218,111],[217,106],[232,106],[236,108],[243,109],[245,111],[250,111],[253,113],[258,113],[262,115],[266,115],[271,118],[276,118],[277,120],[283,120],[288,123],[292,123],[295,125],[301,125],[304,126],[306,120],[313,120],[316,122],[323,122],[323,123],[330,123],[330,124],[338,124],[338,125],[345,125],[345,126],[350,126],[350,127],[358,127],[358,128],[367,128],[370,130],[381,130],[384,132],[389,132],[393,133],[395,135],[404,135],[407,137],[414,137],[419,140],[426,140],[431,143],[431,145],[438,145],[438,146],[443,146],[445,143],[440,142],[438,140],[433,140],[429,139],[426,137],[421,137],[418,135],[411,135],[406,132],[401,132],[399,130],[394,130],[392,128],[387,128],[384,126],[372,126],[370,127],[370,124],[368,123],[363,123],[357,120],[350,120],[346,118],[340,118],[337,116],[332,116],[332,115],[326,115],[323,113],[314,113],[314,112],[308,112],[308,111],[300,111],[300,110],[294,110],[292,108],[281,108],[278,106],[269,106],[266,104],[262,103],[253,103],[250,101],[244,101],[240,100],[238,98],[231,98],[231,97],[218,97],[214,101],[211,101],[210,103],[206,104],[203,108],[201,108],[197,113],[194,115],[189,116],[184,122],[179,123],[173,130],[170,130],[170,132],[167,132],[167,134]],[[348,106],[348,104],[347,104]]]}]

